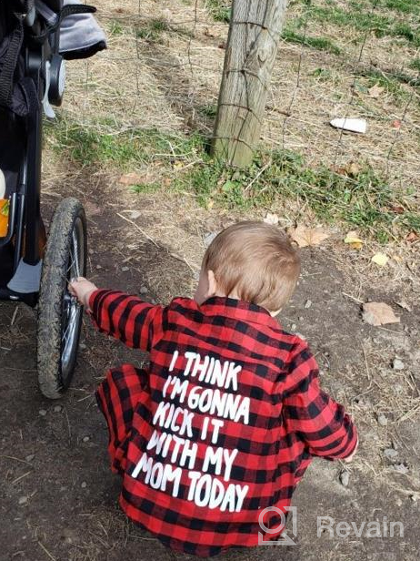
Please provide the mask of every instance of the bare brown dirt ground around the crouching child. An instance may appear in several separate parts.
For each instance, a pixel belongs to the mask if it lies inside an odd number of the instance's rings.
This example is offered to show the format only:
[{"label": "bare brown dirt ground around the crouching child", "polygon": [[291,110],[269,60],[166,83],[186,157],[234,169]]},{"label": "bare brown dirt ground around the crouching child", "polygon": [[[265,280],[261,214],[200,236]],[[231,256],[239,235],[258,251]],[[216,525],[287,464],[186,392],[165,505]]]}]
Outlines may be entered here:
[{"label": "bare brown dirt ground around the crouching child", "polygon": [[[147,289],[146,299],[162,302],[190,294],[203,236],[231,218],[194,208],[188,199],[130,195],[109,178],[85,178],[83,185],[70,189],[63,184],[57,191],[60,196],[73,192],[85,204],[90,276],[95,282],[135,293]],[[48,219],[56,197],[45,199]],[[173,222],[167,226],[166,239],[162,235],[157,241],[154,229],[167,217],[168,207]],[[140,216],[132,214],[136,210]],[[134,218],[127,222],[122,216]],[[420,403],[420,332],[415,284],[409,276],[396,276],[395,284],[395,271],[393,278],[375,280],[365,268],[364,283],[355,290],[355,278],[362,277],[352,260],[361,258],[350,251],[344,263],[339,259],[340,244],[333,237],[324,246],[303,251],[298,291],[279,319],[287,330],[298,331],[311,342],[325,389],[355,415],[360,452],[354,464],[319,460],[312,464],[294,498],[296,546],[235,550],[221,556],[226,560],[418,557],[420,434],[415,413]],[[390,303],[401,322],[386,328],[363,323],[357,300],[368,299]],[[411,311],[395,304],[403,300]],[[99,335],[85,321],[73,385],[62,401],[49,402],[37,389],[35,329],[35,311],[0,304],[0,558],[184,557],[129,524],[120,512],[118,480],[108,468],[105,422],[93,396],[108,367],[127,360],[140,364],[146,357]],[[392,367],[395,357],[404,362],[403,370]],[[388,458],[386,449],[395,452]],[[344,470],[347,486],[341,482]],[[394,538],[385,537],[382,529],[382,537],[369,537],[366,529],[361,536],[352,531],[347,537],[328,532],[318,537],[317,516],[331,516],[335,524],[354,522],[357,527],[375,520],[381,528],[384,520],[401,521],[404,536],[396,528]]]}]

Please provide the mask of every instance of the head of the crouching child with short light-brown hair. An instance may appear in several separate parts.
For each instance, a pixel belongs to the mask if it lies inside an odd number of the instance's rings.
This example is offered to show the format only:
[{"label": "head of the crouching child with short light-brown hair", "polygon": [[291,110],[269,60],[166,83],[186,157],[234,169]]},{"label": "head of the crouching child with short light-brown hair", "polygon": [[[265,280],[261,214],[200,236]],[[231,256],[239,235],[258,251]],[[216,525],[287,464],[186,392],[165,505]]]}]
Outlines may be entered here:
[{"label": "head of the crouching child with short light-brown hair", "polygon": [[297,251],[285,234],[264,222],[239,222],[221,231],[205,251],[195,301],[230,296],[281,310],[300,273]]}]

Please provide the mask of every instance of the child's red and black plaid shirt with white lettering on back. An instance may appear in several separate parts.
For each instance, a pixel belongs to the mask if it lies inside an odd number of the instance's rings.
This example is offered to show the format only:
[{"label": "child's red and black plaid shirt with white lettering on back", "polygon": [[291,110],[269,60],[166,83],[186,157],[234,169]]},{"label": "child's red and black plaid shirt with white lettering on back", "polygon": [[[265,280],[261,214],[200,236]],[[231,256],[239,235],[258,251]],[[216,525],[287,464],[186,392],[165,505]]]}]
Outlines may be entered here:
[{"label": "child's red and black plaid shirt with white lettering on back", "polygon": [[[355,426],[319,387],[307,344],[263,308],[214,297],[161,307],[120,291],[89,301],[99,331],[150,352],[108,373],[96,396],[122,474],[125,514],[166,546],[213,556],[278,538],[312,456],[345,458]],[[205,358],[207,357],[207,358]],[[212,373],[213,370],[213,373]],[[263,519],[263,518],[262,518]]]}]

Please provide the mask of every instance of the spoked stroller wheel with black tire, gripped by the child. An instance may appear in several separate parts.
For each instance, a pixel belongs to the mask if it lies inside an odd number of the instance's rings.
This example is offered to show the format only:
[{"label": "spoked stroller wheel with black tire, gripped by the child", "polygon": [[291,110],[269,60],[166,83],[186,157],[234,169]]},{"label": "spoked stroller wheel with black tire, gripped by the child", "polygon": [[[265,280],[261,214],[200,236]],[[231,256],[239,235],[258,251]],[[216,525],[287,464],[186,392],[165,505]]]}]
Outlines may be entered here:
[{"label": "spoked stroller wheel with black tire, gripped by the child", "polygon": [[83,308],[67,286],[85,272],[85,210],[77,199],[64,199],[51,223],[38,301],[38,381],[51,399],[62,396],[75,371]]}]

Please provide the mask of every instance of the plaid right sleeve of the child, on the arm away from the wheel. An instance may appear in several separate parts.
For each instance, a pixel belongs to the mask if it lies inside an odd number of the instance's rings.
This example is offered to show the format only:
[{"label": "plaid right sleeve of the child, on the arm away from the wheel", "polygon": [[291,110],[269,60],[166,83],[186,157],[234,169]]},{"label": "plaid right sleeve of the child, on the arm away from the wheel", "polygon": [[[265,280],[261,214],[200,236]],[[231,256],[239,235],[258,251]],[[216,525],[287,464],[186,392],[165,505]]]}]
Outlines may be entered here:
[{"label": "plaid right sleeve of the child, on the arm away from the wheel", "polygon": [[287,432],[297,433],[309,453],[329,460],[345,459],[355,450],[357,431],[345,408],[319,386],[315,358],[300,345],[291,362],[294,389],[284,400]]}]

